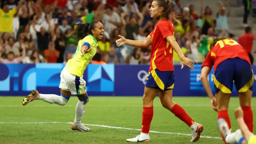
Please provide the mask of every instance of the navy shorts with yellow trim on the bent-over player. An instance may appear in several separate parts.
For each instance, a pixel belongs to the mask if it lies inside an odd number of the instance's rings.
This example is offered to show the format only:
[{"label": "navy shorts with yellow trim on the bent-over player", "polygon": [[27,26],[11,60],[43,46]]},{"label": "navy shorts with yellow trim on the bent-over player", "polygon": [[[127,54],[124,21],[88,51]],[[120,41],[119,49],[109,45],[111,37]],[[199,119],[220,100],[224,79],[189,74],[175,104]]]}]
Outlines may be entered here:
[{"label": "navy shorts with yellow trim on the bent-over player", "polygon": [[238,92],[252,90],[254,75],[251,65],[246,60],[226,59],[217,66],[213,77],[215,93],[222,91],[231,94],[233,81]]}]

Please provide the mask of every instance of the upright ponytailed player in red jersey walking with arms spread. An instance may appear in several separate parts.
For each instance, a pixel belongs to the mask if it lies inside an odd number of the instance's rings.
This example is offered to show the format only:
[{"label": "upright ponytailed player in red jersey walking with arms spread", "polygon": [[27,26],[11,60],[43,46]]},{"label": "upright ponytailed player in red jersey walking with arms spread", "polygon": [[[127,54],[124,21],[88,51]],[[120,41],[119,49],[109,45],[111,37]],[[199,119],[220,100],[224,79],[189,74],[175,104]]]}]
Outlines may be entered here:
[{"label": "upright ponytailed player in red jersey walking with arms spread", "polygon": [[132,41],[119,36],[117,46],[128,44],[133,47],[151,47],[150,67],[143,95],[142,131],[135,138],[127,139],[127,142],[150,142],[149,129],[153,118],[153,100],[159,95],[162,106],[175,114],[181,121],[185,122],[192,130],[191,142],[196,142],[203,130],[201,124],[196,123],[186,111],[172,100],[172,89],[174,88],[174,64],[173,49],[181,59],[183,68],[187,65],[194,69],[194,62],[186,58],[181,48],[174,39],[174,26],[169,21],[170,15],[175,18],[171,10],[170,0],[154,0],[151,4],[150,15],[156,18],[158,23],[154,30],[144,41]]}]

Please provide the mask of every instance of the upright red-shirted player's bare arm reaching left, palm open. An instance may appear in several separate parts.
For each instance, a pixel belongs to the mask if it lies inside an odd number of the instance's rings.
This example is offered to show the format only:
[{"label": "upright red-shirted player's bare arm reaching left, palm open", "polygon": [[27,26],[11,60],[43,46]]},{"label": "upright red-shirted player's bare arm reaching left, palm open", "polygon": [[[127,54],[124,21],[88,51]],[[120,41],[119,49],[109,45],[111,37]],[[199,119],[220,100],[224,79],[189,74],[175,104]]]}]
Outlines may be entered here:
[{"label": "upright red-shirted player's bare arm reaching left, palm open", "polygon": [[133,41],[130,39],[126,39],[123,36],[120,36],[120,35],[118,36],[119,36],[119,39],[116,41],[118,47],[122,46],[123,44],[128,44],[133,47],[148,48],[152,43],[152,39],[150,35],[144,41]]}]

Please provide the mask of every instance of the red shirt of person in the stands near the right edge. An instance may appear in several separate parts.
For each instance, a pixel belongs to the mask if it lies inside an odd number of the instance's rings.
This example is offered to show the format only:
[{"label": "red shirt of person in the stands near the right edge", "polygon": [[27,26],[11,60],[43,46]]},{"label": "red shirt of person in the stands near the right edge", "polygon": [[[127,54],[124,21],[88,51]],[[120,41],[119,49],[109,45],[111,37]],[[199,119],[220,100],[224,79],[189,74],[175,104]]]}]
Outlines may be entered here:
[{"label": "red shirt of person in the stands near the right edge", "polygon": [[254,35],[250,33],[245,33],[238,38],[238,43],[241,44],[241,46],[247,51],[247,53],[251,52],[253,41]]}]

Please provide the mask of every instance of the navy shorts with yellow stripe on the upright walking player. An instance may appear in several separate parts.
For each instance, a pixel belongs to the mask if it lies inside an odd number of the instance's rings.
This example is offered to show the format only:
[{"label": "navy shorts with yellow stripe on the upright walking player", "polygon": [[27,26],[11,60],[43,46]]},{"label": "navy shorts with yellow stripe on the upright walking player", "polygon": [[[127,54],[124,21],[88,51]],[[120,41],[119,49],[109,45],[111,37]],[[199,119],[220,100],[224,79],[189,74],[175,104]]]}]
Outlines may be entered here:
[{"label": "navy shorts with yellow stripe on the upright walking player", "polygon": [[151,70],[146,78],[146,87],[151,87],[161,91],[174,88],[174,71]]}]

